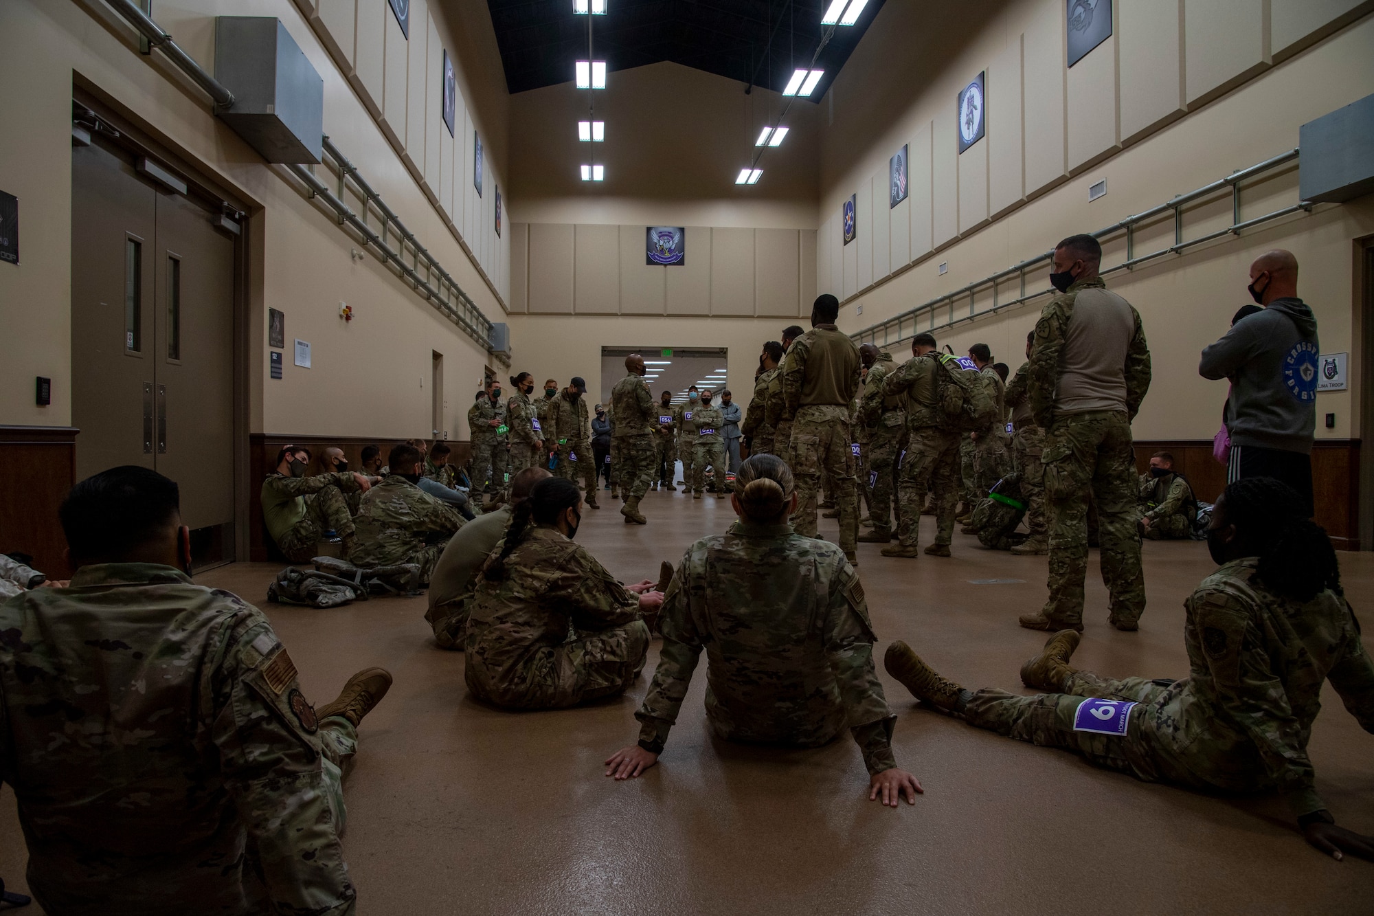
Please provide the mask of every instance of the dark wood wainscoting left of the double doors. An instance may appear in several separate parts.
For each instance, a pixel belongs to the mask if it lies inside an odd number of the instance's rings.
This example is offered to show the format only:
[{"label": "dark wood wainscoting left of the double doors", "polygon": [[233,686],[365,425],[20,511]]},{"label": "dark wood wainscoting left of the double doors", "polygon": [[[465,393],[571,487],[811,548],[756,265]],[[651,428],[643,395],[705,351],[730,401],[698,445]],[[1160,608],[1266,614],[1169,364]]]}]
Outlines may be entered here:
[{"label": "dark wood wainscoting left of the double doors", "polygon": [[49,579],[66,579],[67,539],[58,506],[76,483],[74,426],[0,426],[0,553],[26,553]]}]

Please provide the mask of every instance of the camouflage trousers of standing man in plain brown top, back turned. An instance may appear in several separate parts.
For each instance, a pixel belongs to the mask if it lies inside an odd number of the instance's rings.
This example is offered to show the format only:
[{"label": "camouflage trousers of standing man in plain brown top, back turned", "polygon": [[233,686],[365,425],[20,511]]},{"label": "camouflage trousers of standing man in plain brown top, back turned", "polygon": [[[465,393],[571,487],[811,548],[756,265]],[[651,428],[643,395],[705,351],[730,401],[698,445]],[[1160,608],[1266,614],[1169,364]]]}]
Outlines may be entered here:
[{"label": "camouflage trousers of standing man in plain brown top, back turned", "polygon": [[791,473],[797,480],[797,534],[816,536],[816,492],[820,476],[829,473],[840,509],[840,549],[852,553],[859,538],[859,492],[855,486],[853,439],[849,436],[849,407],[805,404],[791,424]]}]

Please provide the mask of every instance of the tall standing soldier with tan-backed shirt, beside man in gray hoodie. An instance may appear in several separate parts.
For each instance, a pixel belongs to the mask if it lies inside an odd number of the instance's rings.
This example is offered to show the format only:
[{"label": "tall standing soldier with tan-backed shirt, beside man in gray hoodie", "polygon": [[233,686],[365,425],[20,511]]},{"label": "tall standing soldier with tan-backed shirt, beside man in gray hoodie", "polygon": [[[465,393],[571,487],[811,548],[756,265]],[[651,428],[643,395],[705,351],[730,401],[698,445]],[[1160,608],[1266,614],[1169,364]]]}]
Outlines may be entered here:
[{"label": "tall standing soldier with tan-backed shirt, beside man in gray hoodie", "polygon": [[1054,249],[1050,282],[1059,294],[1040,312],[1026,388],[1044,429],[1044,495],[1050,510],[1050,600],[1021,618],[1032,630],[1083,630],[1088,568],[1088,494],[1098,509],[1109,622],[1139,629],[1145,612],[1136,531],[1131,421],[1150,388],[1150,348],[1140,314],[1098,276],[1102,245],[1073,235]]}]

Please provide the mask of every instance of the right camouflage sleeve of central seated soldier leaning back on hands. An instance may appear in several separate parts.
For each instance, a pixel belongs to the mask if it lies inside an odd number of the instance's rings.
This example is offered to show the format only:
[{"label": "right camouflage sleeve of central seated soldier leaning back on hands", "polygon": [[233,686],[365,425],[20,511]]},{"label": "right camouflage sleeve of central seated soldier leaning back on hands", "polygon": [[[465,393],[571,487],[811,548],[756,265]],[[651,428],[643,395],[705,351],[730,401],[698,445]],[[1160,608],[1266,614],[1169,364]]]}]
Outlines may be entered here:
[{"label": "right camouflage sleeve of central seated soldier leaning back on hands", "polygon": [[830,585],[823,638],[845,704],[849,733],[863,752],[868,774],[890,770],[897,765],[892,754],[892,729],[897,717],[888,708],[874,668],[872,644],[877,637],[859,575],[848,563]]}]

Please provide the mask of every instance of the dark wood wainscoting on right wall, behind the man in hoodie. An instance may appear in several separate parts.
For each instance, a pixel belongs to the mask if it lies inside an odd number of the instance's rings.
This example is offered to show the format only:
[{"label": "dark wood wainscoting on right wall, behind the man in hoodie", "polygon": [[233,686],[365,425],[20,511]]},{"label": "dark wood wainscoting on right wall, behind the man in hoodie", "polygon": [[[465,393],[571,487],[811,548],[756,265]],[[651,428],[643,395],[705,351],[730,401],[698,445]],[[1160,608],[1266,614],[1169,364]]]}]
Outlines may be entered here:
[{"label": "dark wood wainscoting on right wall, behind the man in hoodie", "polygon": [[[1150,455],[1167,451],[1173,466],[1193,484],[1202,502],[1216,502],[1226,488],[1226,466],[1212,457],[1208,439],[1136,440],[1135,464],[1147,473]],[[1312,501],[1316,523],[1337,550],[1360,549],[1360,440],[1318,439],[1312,443]]]}]

